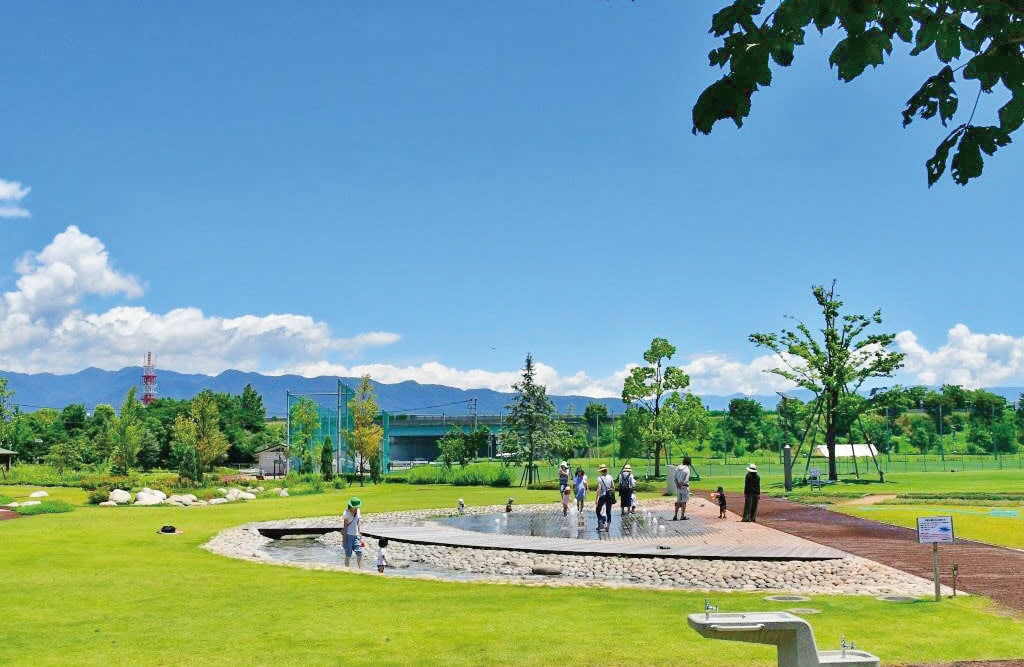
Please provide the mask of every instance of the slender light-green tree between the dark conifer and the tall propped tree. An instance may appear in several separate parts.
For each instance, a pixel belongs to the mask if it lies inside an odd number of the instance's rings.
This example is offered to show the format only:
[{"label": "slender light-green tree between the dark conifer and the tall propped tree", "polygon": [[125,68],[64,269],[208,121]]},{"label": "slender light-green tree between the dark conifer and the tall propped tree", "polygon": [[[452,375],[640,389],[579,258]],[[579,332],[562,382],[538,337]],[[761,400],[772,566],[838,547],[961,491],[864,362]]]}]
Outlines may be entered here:
[{"label": "slender light-green tree between the dark conifer and the tall propped tree", "polygon": [[683,369],[667,365],[675,353],[675,345],[666,338],[654,338],[643,353],[647,365],[633,368],[623,383],[623,403],[640,404],[649,417],[646,440],[653,445],[655,477],[662,474],[660,457],[665,443],[672,437],[672,431],[659,423],[662,398],[670,391],[684,389],[690,383],[690,378]]}]

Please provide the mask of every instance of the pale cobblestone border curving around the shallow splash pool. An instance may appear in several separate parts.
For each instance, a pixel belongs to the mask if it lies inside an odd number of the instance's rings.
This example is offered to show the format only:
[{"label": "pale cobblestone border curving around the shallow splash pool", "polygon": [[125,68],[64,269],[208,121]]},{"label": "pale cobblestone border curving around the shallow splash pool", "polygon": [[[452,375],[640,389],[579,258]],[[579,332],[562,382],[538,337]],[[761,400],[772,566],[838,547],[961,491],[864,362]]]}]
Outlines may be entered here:
[{"label": "pale cobblestone border curving around the shallow splash pool", "polygon": [[[550,510],[552,505],[517,505],[517,511]],[[466,513],[499,513],[504,506],[470,507]],[[380,512],[364,517],[371,526],[404,525],[412,522],[456,515],[455,510],[421,509]],[[289,562],[271,558],[260,547],[271,542],[257,529],[308,528],[337,526],[338,516],[291,518],[247,524],[226,529],[203,545],[204,549],[243,560],[307,570],[330,570],[380,576],[374,565],[376,541],[368,540],[364,549],[362,570],[332,562]],[[318,538],[341,549],[341,535],[331,533]],[[934,594],[932,582],[884,566],[873,560],[849,555],[831,560],[723,560],[698,558],[659,558],[547,554],[529,551],[474,549],[391,540],[388,559],[400,568],[417,562],[439,571],[473,573],[472,579],[452,580],[440,572],[433,575],[410,575],[409,579],[428,579],[459,583],[516,583],[524,585],[577,587],[631,587],[695,591],[764,591],[799,594],[912,595]],[[352,560],[354,564],[354,559]],[[561,570],[559,576],[534,575],[537,566]],[[385,575],[386,576],[386,575]],[[945,588],[945,587],[944,587]],[[951,591],[949,591],[951,592]]]}]

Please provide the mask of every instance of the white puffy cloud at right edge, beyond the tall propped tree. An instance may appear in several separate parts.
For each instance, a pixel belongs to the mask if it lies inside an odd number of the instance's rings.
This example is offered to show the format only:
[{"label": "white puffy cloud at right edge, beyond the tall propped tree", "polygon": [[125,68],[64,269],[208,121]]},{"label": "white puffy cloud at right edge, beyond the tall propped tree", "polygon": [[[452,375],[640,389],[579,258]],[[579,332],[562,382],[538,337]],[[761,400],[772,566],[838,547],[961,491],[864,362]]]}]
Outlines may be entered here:
[{"label": "white puffy cloud at right edge, beyond the tall propped tree", "polygon": [[946,343],[926,349],[912,331],[896,335],[906,353],[904,370],[920,384],[962,384],[966,387],[998,386],[1024,378],[1024,337],[972,332],[957,324],[946,334]]}]

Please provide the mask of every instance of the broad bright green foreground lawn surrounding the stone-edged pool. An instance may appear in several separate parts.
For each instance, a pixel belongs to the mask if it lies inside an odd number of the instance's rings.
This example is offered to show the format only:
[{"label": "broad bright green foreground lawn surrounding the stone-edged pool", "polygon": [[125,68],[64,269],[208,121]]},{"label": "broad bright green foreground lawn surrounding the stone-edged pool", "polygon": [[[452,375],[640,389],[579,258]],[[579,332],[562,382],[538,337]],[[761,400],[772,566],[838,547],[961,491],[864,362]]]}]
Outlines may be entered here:
[{"label": "broad bright green foreground lawn surrounding the stone-edged pool", "polygon": [[[15,499],[30,489],[0,488]],[[53,490],[51,490],[53,491]],[[229,505],[77,507],[0,522],[5,665],[773,665],[773,650],[699,637],[706,593],[408,580],[236,560],[200,545],[252,520],[554,500],[519,489],[391,485]],[[55,491],[78,501],[77,491]],[[173,524],[184,533],[161,536]],[[711,593],[723,611],[785,609]],[[840,635],[886,664],[1024,658],[1024,620],[983,598],[815,596],[819,648]],[[933,631],[955,628],[955,631]],[[570,656],[575,656],[570,659]]]}]

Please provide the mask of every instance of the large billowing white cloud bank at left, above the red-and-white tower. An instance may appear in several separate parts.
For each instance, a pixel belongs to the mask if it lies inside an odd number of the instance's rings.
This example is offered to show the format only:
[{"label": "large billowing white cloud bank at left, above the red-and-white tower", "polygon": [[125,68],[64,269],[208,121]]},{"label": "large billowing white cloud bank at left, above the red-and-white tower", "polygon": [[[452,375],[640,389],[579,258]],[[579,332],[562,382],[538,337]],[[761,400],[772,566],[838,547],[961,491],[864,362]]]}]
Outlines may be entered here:
[{"label": "large billowing white cloud bank at left, above the red-and-white tower", "polygon": [[8,371],[119,369],[138,365],[148,350],[163,368],[185,373],[262,371],[399,339],[383,331],[338,338],[325,323],[289,314],[219,318],[195,307],[158,314],[128,305],[88,312],[88,296],[139,297],[142,287],[112,266],[98,239],[74,225],[15,269],[16,289],[0,299],[0,368]]}]

